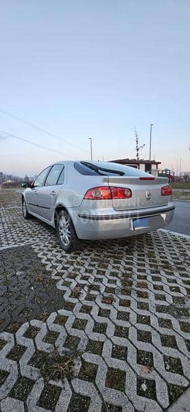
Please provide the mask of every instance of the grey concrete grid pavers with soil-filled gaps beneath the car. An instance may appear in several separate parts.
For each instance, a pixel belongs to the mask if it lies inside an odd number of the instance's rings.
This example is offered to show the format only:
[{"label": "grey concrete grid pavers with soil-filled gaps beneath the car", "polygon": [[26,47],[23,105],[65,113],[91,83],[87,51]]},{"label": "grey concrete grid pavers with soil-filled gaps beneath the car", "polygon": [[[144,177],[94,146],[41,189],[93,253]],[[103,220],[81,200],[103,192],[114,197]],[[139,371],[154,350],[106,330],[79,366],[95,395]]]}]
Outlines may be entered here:
[{"label": "grey concrete grid pavers with soil-filled gaps beneath the car", "polygon": [[0,192],[1,411],[164,411],[189,387],[190,241],[82,242]]}]

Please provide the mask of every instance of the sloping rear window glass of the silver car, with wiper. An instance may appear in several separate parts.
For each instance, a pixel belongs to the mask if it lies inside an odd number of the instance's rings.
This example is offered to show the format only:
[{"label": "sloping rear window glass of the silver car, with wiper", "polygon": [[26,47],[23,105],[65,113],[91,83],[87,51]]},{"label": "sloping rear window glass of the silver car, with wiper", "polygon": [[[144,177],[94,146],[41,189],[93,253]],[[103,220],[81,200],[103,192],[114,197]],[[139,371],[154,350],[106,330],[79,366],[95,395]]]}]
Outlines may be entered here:
[{"label": "sloping rear window glass of the silver car, with wiper", "polygon": [[75,162],[74,168],[80,173],[80,174],[86,174],[88,176],[93,175],[97,176],[99,174],[105,174],[106,176],[118,176],[117,173],[114,172],[116,170],[117,172],[122,172],[124,173],[125,176],[150,176],[150,174],[142,172],[139,169],[132,168],[130,166],[126,165],[121,165],[119,163],[111,163],[109,161],[91,161],[88,162],[91,163],[92,165],[95,165],[100,168],[107,169],[107,171],[99,170],[99,172],[96,172],[95,170],[92,170],[88,166],[80,163],[80,162]]}]

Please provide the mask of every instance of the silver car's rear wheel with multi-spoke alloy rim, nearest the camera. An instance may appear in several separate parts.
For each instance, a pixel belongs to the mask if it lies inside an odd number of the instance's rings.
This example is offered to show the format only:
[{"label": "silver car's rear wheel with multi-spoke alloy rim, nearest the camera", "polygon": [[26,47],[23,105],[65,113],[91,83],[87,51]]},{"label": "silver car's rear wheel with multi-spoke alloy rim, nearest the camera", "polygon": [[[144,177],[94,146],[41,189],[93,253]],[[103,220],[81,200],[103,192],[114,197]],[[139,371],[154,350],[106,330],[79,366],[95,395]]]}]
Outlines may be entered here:
[{"label": "silver car's rear wheel with multi-spoke alloy rim, nearest the camera", "polygon": [[78,237],[73,227],[73,222],[66,210],[61,210],[57,218],[57,236],[60,247],[71,253],[78,245]]}]

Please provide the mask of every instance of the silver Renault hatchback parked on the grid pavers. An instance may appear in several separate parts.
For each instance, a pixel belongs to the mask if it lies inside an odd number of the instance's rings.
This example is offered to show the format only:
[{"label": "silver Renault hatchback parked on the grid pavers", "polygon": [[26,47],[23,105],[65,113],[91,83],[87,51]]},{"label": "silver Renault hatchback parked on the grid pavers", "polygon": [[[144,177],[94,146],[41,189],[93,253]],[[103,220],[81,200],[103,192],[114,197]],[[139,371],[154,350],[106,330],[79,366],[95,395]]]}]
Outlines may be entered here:
[{"label": "silver Renault hatchback parked on the grid pavers", "polygon": [[135,236],[168,225],[174,216],[167,178],[118,163],[60,161],[22,186],[24,218],[55,227],[67,253],[79,239]]}]

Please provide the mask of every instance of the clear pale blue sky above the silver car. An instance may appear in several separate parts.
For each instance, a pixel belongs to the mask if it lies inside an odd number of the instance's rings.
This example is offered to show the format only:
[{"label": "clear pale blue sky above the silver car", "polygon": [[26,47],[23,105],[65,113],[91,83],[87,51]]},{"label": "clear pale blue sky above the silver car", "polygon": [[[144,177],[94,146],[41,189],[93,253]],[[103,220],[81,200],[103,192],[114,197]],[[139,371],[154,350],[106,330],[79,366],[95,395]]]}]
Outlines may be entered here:
[{"label": "clear pale blue sky above the silver car", "polygon": [[89,159],[90,137],[93,159],[134,158],[134,127],[148,159],[150,123],[152,159],[176,170],[181,157],[190,170],[189,0],[0,7],[0,171]]}]

